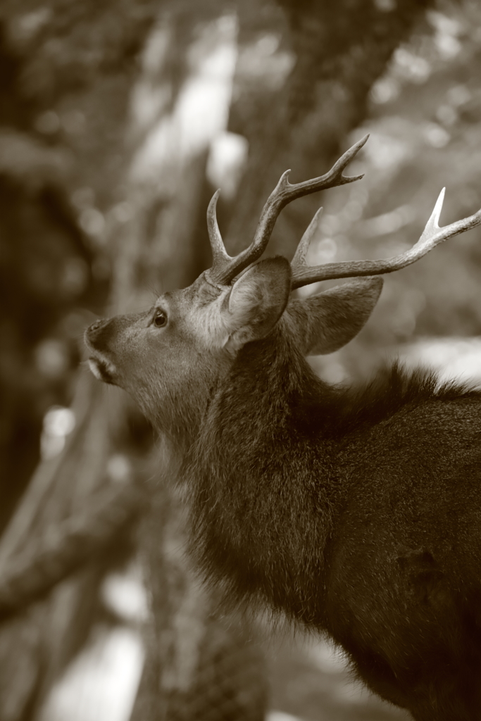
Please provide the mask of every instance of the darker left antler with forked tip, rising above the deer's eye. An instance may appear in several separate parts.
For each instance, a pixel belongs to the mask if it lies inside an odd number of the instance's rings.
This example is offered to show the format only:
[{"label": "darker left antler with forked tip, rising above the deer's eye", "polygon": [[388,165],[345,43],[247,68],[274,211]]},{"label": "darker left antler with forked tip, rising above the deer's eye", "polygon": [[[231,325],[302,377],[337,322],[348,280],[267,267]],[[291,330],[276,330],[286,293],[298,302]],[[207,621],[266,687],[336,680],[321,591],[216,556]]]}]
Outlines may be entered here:
[{"label": "darker left antler with forked tip, rising above the deer's eye", "polygon": [[[247,249],[243,250],[235,257],[231,257],[227,254],[219,231],[219,225],[217,224],[216,205],[220,193],[220,190],[217,190],[216,193],[214,193],[207,210],[207,226],[209,238],[211,239],[213,255],[212,267],[207,271],[208,279],[211,280],[212,283],[228,285],[231,280],[236,277],[236,275],[239,275],[239,273],[247,267],[247,265],[250,265],[252,262],[257,260],[267,247],[270,234],[272,233],[279,213],[281,213],[281,210],[288,203],[291,203],[291,200],[301,198],[302,195],[316,193],[317,190],[327,190],[327,188],[330,187],[345,185],[345,183],[348,182],[361,180],[363,175],[348,177],[343,175],[343,170],[353,157],[356,156],[356,153],[362,148],[368,138],[369,135],[361,138],[361,140],[355,143],[352,148],[345,151],[345,154],[337,160],[329,172],[318,178],[305,180],[304,182],[291,185],[291,183],[288,182],[288,174],[291,171],[286,170],[286,172],[281,175],[281,179],[275,186],[273,192],[267,200],[267,203],[265,203],[264,208],[262,209],[260,221],[257,225],[257,230],[255,231],[252,243]],[[306,280],[306,283],[312,282],[312,280]],[[301,285],[304,285],[304,283],[301,283]]]}]

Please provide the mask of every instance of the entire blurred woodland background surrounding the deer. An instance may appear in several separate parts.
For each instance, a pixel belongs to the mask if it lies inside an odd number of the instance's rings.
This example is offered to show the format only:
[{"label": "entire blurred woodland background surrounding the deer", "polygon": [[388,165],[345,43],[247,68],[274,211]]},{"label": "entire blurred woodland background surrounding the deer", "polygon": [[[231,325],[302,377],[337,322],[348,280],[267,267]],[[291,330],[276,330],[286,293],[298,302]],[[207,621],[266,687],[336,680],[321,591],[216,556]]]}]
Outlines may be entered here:
[{"label": "entire blurred woodland background surrounding the deer", "polygon": [[[183,554],[162,441],[84,365],[96,317],[230,252],[279,175],[269,253],[388,257],[481,207],[477,0],[3,0],[0,5],[0,721],[388,721],[324,640],[219,608]],[[481,377],[481,231],[387,277],[369,324],[312,363]]]}]

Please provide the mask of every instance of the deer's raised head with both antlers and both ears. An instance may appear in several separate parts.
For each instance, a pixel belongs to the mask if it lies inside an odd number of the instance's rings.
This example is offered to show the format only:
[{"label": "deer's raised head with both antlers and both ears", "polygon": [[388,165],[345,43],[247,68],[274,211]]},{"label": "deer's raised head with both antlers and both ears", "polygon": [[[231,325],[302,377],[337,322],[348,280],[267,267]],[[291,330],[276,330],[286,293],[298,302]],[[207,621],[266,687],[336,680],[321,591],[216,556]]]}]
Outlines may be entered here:
[{"label": "deer's raised head with both antlers and both ears", "polygon": [[[481,223],[481,211],[440,228],[444,190],[418,242],[387,260],[309,267],[306,253],[319,214],[304,233],[291,264],[259,258],[281,210],[296,198],[360,180],[343,170],[366,143],[358,141],[321,177],[291,185],[287,170],[270,194],[250,246],[236,257],[224,247],[216,220],[219,190],[208,206],[213,265],[188,288],[164,293],[143,313],[92,324],[85,333],[89,365],[98,379],[122,387],[165,433],[187,438],[203,417],[216,385],[247,343],[272,335],[303,355],[332,353],[369,318],[381,293],[382,273],[409,265],[438,243]],[[256,262],[258,261],[258,262]],[[362,276],[368,276],[362,278]],[[332,278],[358,278],[309,298],[295,288]]]}]

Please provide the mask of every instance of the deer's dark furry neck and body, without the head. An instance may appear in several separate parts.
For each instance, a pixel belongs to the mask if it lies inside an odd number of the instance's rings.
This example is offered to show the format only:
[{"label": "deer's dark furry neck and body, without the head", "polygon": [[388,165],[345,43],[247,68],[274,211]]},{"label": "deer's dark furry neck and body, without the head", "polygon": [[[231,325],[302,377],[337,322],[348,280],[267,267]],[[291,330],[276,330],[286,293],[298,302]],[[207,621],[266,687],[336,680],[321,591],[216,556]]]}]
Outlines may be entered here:
[{"label": "deer's dark furry neck and body, without the head", "polygon": [[327,631],[415,719],[478,718],[480,409],[397,366],[328,386],[278,327],[239,351],[188,454],[193,552],[230,598]]}]

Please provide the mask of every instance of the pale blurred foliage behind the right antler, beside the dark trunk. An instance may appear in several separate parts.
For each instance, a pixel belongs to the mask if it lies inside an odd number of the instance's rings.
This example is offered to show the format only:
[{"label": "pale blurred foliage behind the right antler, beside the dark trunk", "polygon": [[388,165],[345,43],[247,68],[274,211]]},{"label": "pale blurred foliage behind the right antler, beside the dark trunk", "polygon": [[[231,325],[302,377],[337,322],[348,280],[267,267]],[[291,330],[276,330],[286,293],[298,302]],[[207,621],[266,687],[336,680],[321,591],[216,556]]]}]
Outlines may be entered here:
[{"label": "pale blurred foliage behind the right antler, beside the dark trunk", "polygon": [[[325,198],[311,262],[389,257],[416,242],[446,186],[441,225],[481,207],[480,6],[428,11],[370,92],[371,133],[348,189]],[[399,343],[424,336],[475,336],[481,330],[481,231],[437,247],[386,276],[371,322],[331,359],[332,379],[365,376]],[[323,361],[319,361],[319,366]]]}]

